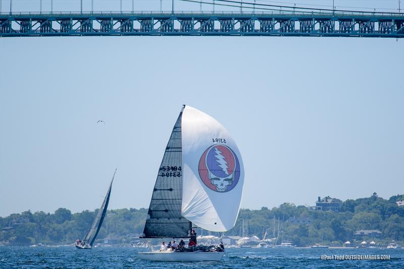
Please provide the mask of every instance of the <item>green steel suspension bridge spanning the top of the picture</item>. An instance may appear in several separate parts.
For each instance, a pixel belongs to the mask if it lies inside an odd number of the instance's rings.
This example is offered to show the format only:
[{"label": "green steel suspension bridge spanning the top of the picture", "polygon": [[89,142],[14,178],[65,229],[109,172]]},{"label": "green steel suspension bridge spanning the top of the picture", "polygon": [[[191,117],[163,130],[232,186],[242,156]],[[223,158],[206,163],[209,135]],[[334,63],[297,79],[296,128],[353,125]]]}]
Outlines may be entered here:
[{"label": "green steel suspension bridge spanning the top of the picture", "polygon": [[[183,0],[185,1],[185,0]],[[232,11],[83,11],[0,13],[0,37],[28,36],[330,36],[404,37],[404,13],[314,9],[256,1],[185,2]],[[82,3],[82,0],[81,0]],[[82,5],[82,4],[81,4]],[[91,2],[92,5],[92,2]],[[161,7],[161,4],[160,4]]]}]

